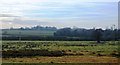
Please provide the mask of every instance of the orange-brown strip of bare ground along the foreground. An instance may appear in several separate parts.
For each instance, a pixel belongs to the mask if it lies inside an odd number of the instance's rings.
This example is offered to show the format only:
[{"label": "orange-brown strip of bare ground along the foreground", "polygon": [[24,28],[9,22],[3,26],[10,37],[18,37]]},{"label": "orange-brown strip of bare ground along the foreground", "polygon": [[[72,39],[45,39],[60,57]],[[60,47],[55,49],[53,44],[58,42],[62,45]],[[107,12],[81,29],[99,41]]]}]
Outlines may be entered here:
[{"label": "orange-brown strip of bare ground along the foreground", "polygon": [[23,63],[118,63],[118,58],[107,56],[61,56],[61,57],[23,57],[3,58],[3,62]]}]

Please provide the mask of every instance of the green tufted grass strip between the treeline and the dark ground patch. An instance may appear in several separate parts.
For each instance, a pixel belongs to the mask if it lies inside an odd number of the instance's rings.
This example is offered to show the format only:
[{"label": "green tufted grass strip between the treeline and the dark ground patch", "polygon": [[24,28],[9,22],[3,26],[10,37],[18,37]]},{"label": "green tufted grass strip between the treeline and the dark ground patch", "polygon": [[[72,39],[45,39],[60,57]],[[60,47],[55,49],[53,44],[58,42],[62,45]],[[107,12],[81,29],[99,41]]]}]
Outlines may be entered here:
[{"label": "green tufted grass strip between the treeline and the dark ground patch", "polygon": [[96,43],[95,41],[2,41],[3,51],[7,50],[48,50],[64,52],[90,52],[110,55],[118,53],[118,41],[106,41]]}]

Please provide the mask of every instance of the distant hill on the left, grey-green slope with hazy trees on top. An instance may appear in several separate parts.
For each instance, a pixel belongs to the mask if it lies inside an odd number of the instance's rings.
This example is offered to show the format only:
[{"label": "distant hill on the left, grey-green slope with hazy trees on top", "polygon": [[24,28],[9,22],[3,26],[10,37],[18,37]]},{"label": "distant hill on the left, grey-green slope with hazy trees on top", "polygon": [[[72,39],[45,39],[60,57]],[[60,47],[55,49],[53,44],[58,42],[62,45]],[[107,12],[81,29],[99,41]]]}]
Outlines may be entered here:
[{"label": "distant hill on the left, grey-green slope with hazy trees on top", "polygon": [[26,27],[26,28],[10,28],[10,29],[2,29],[3,36],[53,36],[54,32],[57,30],[56,27],[42,27],[42,26],[34,26],[34,27]]}]

